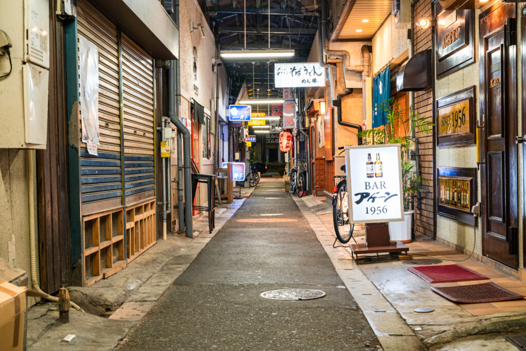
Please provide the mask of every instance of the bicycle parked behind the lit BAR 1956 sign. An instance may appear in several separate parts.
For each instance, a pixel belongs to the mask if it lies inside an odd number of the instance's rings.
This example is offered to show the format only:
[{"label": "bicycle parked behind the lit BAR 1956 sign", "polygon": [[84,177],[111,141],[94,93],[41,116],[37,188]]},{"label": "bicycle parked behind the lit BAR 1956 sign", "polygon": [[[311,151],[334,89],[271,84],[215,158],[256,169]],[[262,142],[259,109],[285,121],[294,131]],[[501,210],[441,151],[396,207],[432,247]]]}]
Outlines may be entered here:
[{"label": "bicycle parked behind the lit BAR 1956 sign", "polygon": [[[338,147],[342,150],[343,147]],[[339,153],[341,155],[343,151]],[[340,169],[346,172],[345,165],[342,165]],[[349,193],[347,192],[347,176],[346,175],[335,175],[333,179],[339,178],[340,180],[334,187],[334,194],[332,195],[332,222],[334,224],[334,231],[339,242],[346,244],[352,238],[352,232],[355,228],[354,224],[349,223]]]}]

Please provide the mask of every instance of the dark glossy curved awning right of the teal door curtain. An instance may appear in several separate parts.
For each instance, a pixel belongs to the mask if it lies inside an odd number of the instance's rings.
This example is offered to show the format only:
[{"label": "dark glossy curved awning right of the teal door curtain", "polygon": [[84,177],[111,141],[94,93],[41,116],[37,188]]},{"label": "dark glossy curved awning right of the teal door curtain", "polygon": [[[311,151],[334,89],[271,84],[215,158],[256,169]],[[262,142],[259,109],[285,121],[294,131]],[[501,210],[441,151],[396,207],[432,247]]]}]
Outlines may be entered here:
[{"label": "dark glossy curved awning right of the teal door curtain", "polygon": [[431,54],[431,49],[421,51],[400,67],[397,91],[418,92],[431,87]]}]

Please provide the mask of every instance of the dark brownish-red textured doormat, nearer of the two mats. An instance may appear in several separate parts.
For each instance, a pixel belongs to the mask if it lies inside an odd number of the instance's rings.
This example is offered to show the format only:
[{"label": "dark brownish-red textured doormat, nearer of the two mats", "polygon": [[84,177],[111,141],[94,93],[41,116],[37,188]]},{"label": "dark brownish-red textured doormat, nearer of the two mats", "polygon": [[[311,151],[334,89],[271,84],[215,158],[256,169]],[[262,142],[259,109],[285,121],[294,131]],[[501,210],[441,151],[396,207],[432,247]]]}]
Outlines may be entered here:
[{"label": "dark brownish-red textured doormat, nearer of the two mats", "polygon": [[437,288],[432,286],[431,290],[453,302],[462,304],[480,304],[484,302],[497,302],[517,300],[524,296],[501,288],[495,283],[482,283],[475,285],[462,285]]}]

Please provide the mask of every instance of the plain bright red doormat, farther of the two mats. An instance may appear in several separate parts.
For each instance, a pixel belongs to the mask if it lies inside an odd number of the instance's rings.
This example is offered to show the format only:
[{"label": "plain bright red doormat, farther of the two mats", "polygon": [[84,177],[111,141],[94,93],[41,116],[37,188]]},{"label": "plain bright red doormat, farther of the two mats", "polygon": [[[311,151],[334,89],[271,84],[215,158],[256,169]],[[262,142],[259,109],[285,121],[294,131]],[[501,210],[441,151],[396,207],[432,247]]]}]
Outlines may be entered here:
[{"label": "plain bright red doormat, farther of the two mats", "polygon": [[459,265],[420,266],[408,267],[407,269],[409,269],[409,272],[418,275],[431,284],[489,279],[469,268]]}]

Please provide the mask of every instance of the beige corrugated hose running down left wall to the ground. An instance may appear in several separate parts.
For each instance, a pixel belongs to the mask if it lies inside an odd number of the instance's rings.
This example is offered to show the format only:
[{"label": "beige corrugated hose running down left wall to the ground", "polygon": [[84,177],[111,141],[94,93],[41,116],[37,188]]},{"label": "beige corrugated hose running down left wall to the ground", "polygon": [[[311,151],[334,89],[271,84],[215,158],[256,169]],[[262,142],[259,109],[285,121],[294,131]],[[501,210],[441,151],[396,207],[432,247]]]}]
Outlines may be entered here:
[{"label": "beige corrugated hose running down left wall to the ground", "polygon": [[[31,285],[33,287],[33,290],[35,290],[37,293],[45,295],[45,299],[48,299],[53,302],[58,302],[58,297],[49,295],[42,291],[42,289],[38,286],[38,280],[36,279],[36,249],[35,249],[35,199],[34,199],[34,177],[33,177],[33,157],[34,157],[33,150],[27,151],[27,173],[28,173],[28,199],[29,199],[29,255],[31,256]],[[69,302],[70,305],[78,309],[79,311],[84,312],[82,308],[80,308],[77,304],[74,302]]]}]

